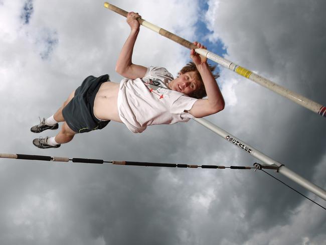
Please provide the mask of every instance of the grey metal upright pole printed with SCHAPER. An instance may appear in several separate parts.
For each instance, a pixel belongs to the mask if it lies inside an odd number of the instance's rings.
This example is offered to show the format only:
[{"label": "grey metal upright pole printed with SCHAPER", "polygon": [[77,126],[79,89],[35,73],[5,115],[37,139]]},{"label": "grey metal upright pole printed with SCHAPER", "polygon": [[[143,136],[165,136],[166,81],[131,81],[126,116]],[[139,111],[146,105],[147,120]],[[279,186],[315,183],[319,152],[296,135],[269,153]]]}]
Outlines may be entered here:
[{"label": "grey metal upright pole printed with SCHAPER", "polygon": [[215,134],[219,135],[223,139],[227,140],[228,142],[232,143],[236,147],[244,150],[245,152],[249,153],[253,157],[257,158],[258,160],[262,161],[268,165],[276,165],[278,166],[278,172],[285,175],[292,181],[296,182],[297,184],[301,185],[305,189],[311,191],[312,193],[316,194],[320,198],[326,201],[326,191],[319,186],[311,183],[310,181],[306,180],[305,178],[301,177],[300,175],[294,173],[290,169],[286,168],[283,164],[271,159],[267,155],[263,154],[262,152],[258,151],[257,149],[253,148],[252,146],[244,143],[243,141],[239,140],[238,138],[234,137],[233,135],[229,134],[228,132],[222,130],[221,128],[217,127],[216,125],[212,124],[212,122],[203,119],[203,118],[194,118],[195,121],[199,122],[199,124],[203,125],[207,129],[213,131]]}]

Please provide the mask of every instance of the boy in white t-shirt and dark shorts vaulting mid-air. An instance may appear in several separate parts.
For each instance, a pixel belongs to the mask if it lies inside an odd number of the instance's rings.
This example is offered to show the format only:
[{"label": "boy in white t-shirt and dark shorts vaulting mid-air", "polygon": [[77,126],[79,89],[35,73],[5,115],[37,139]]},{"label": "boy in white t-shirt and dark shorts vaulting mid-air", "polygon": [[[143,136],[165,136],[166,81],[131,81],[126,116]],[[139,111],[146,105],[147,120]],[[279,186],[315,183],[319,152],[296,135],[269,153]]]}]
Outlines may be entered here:
[{"label": "boy in white t-shirt and dark shorts vaulting mid-air", "polygon": [[[131,62],[139,32],[138,13],[130,12],[127,23],[130,34],[116,63],[123,79],[111,82],[108,75],[87,77],[73,91],[59,110],[31,128],[34,133],[58,129],[56,137],[34,139],[38,148],[58,148],[70,142],[75,134],[104,128],[110,120],[123,122],[133,133],[141,133],[148,125],[174,124],[192,117],[214,114],[224,108],[224,99],[207,59],[194,50],[193,62],[174,79],[162,67],[146,68]],[[195,42],[198,48],[205,48]],[[207,99],[202,99],[207,95]]]}]

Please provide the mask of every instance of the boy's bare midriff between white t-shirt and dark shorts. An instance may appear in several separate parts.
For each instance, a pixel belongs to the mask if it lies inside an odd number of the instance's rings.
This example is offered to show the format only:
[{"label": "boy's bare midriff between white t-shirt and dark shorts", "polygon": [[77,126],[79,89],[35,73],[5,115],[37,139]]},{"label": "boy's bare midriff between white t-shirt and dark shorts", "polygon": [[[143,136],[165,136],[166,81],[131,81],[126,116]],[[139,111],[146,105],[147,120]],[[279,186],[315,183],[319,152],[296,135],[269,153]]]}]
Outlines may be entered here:
[{"label": "boy's bare midriff between white t-shirt and dark shorts", "polygon": [[121,122],[118,112],[119,83],[103,82],[94,100],[94,115],[101,120]]}]

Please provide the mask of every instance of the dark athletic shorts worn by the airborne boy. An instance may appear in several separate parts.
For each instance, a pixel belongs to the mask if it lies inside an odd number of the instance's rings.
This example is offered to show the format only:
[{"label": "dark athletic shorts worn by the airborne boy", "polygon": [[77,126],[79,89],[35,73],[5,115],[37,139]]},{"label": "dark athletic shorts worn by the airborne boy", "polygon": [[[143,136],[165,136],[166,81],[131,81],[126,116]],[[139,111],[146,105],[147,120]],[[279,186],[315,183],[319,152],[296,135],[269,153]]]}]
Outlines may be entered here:
[{"label": "dark athletic shorts worn by the airborne boy", "polygon": [[76,89],[75,96],[63,108],[62,114],[69,128],[76,133],[86,133],[103,129],[110,120],[99,120],[94,115],[94,100],[103,82],[109,81],[109,75],[88,76]]}]

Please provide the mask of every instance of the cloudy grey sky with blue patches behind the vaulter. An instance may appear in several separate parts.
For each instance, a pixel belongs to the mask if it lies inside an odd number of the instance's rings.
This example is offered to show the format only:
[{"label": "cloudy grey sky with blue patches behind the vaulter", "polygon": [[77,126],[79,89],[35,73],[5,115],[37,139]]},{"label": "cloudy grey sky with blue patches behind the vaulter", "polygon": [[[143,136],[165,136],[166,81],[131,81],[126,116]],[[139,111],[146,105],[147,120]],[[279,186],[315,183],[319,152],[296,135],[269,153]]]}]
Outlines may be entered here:
[{"label": "cloudy grey sky with blue patches behind the vaulter", "polygon": [[[117,122],[59,149],[32,145],[88,75],[110,74],[129,27],[93,0],[0,0],[0,152],[252,166],[190,120],[133,134]],[[113,1],[126,11],[326,105],[326,3]],[[133,62],[174,75],[189,51],[141,28]],[[326,188],[325,118],[221,68],[222,112],[207,119]],[[45,137],[54,132],[44,132]],[[314,201],[326,202],[276,175]],[[325,244],[326,212],[261,171],[0,159],[1,244]]]}]

